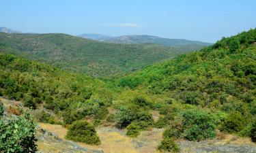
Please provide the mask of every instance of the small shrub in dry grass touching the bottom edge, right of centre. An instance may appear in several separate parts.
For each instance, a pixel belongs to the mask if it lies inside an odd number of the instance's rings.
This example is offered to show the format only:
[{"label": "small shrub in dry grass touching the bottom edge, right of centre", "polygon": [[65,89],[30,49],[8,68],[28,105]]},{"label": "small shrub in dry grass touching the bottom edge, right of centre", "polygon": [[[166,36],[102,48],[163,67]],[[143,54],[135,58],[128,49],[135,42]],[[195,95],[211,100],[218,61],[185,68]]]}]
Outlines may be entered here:
[{"label": "small shrub in dry grass touching the bottom edge, right of centre", "polygon": [[165,152],[179,152],[180,148],[173,138],[164,138],[158,145],[158,150]]}]

